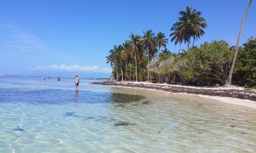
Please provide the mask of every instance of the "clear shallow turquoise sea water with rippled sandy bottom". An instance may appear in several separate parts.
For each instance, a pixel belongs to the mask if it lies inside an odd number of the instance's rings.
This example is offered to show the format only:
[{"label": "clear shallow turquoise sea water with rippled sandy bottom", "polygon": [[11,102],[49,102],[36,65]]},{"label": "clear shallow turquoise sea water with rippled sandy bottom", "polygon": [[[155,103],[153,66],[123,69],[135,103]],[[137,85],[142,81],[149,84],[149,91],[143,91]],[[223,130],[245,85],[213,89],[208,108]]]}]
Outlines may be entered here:
[{"label": "clear shallow turquoise sea water with rippled sandy bottom", "polygon": [[0,75],[1,153],[256,152],[252,108],[42,78]]}]

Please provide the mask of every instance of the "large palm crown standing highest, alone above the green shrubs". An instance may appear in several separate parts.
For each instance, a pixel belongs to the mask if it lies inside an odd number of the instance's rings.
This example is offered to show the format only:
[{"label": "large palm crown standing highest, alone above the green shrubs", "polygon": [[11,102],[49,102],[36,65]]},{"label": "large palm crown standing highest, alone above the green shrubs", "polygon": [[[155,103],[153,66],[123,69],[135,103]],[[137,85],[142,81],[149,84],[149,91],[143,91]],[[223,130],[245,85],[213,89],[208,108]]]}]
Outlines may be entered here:
[{"label": "large palm crown standing highest, alone above the green shrubs", "polygon": [[[204,17],[201,16],[201,12],[197,12],[196,9],[192,10],[192,7],[186,7],[185,11],[180,11],[179,22],[173,24],[171,31],[178,32],[178,35],[183,35],[184,42],[188,43],[187,51],[189,49],[190,37],[193,37],[194,45],[195,39],[197,40],[200,36],[204,35],[204,31],[201,28],[206,28],[207,24],[205,23]],[[176,35],[176,33],[172,34]],[[170,36],[172,36],[170,35]],[[181,37],[178,37],[178,41]],[[172,40],[173,41],[173,40]],[[177,44],[177,42],[176,42]]]}]

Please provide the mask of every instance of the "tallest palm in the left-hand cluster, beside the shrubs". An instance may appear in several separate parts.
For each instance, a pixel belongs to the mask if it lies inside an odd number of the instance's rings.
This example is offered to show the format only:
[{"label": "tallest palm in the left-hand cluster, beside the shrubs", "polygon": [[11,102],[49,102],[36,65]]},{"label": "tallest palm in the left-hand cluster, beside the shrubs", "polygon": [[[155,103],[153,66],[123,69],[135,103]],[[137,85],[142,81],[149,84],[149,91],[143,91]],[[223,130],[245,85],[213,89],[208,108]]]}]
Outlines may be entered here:
[{"label": "tallest palm in the left-hand cluster, beside the shrubs", "polygon": [[[146,32],[142,31],[144,33],[144,36],[142,38],[142,45],[144,46],[144,49],[148,52],[148,63],[149,63],[149,52],[152,52],[154,48],[155,43],[155,33],[153,33],[152,30],[147,30]],[[149,72],[147,81],[149,81]]]}]

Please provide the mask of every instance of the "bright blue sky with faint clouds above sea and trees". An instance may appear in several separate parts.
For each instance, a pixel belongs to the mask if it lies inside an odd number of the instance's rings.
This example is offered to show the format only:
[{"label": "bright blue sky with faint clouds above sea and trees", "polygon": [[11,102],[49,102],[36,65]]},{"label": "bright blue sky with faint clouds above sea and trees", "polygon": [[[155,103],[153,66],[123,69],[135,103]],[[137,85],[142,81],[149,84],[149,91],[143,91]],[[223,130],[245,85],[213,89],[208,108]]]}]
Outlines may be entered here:
[{"label": "bright blue sky with faint clouds above sea and trees", "polygon": [[[236,45],[249,0],[1,0],[0,74],[109,78],[106,56],[131,33],[162,32],[167,49],[179,12],[192,7],[208,27],[194,45],[225,40]],[[256,37],[256,2],[246,18],[240,46]],[[187,49],[186,44],[181,49]],[[160,49],[162,50],[162,49]]]}]

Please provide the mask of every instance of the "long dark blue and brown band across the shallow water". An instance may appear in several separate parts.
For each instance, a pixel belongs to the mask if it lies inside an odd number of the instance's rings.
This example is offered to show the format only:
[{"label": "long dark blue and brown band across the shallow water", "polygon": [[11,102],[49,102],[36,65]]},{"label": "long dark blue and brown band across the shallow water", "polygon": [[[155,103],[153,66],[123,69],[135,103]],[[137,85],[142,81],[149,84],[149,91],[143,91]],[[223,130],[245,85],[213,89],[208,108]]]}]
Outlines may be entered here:
[{"label": "long dark blue and brown band across the shallow water", "polygon": [[[143,102],[146,97],[135,94],[95,92],[84,90],[6,90],[0,92],[3,102],[30,104],[67,104],[67,103],[118,103]],[[133,103],[134,105],[135,103]],[[142,104],[142,103],[136,103]],[[149,104],[144,102],[143,104]]]}]

